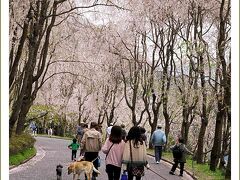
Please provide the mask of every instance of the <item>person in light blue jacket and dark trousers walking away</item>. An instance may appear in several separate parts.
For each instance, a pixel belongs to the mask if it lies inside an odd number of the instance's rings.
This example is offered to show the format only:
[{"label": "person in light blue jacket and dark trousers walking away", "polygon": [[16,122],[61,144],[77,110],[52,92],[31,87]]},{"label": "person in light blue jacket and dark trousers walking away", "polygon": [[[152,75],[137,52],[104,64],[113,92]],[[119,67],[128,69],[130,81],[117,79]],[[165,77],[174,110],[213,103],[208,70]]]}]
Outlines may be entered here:
[{"label": "person in light blue jacket and dark trousers walking away", "polygon": [[166,144],[166,135],[161,129],[162,126],[160,124],[157,125],[157,129],[153,132],[151,137],[151,143],[154,146],[155,160],[157,164],[159,164],[162,159],[162,148]]}]

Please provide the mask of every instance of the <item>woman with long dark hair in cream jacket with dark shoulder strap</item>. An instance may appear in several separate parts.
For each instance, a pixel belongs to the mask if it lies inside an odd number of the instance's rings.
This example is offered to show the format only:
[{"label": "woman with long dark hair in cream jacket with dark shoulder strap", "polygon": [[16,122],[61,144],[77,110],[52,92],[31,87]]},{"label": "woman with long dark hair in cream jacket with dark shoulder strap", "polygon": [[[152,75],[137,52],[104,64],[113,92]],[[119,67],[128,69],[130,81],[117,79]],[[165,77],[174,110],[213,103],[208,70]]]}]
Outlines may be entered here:
[{"label": "woman with long dark hair in cream jacket with dark shoulder strap", "polygon": [[124,172],[128,173],[128,180],[133,180],[134,176],[140,180],[144,176],[144,166],[149,168],[146,145],[137,126],[133,126],[126,137],[122,164]]}]

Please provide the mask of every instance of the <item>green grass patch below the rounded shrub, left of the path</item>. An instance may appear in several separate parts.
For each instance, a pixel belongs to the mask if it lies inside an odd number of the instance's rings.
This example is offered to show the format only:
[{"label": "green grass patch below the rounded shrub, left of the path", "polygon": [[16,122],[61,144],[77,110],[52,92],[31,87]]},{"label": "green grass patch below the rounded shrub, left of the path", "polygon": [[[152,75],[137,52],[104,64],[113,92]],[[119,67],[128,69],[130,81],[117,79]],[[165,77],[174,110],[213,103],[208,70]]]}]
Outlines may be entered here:
[{"label": "green grass patch below the rounded shrub, left of the path", "polygon": [[19,165],[23,163],[25,160],[30,159],[37,153],[35,148],[29,148],[26,150],[23,150],[20,153],[17,153],[15,155],[9,156],[9,165]]}]

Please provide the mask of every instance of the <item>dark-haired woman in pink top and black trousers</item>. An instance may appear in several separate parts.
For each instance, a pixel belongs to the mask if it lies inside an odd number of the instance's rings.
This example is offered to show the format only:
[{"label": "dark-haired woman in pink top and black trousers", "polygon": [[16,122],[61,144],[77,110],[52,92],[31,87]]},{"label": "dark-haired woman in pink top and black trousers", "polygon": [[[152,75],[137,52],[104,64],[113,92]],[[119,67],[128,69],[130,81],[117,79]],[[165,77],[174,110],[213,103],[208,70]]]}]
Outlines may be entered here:
[{"label": "dark-haired woman in pink top and black trousers", "polygon": [[113,126],[111,134],[102,147],[106,154],[106,172],[109,180],[119,180],[125,142],[122,140],[122,128]]}]

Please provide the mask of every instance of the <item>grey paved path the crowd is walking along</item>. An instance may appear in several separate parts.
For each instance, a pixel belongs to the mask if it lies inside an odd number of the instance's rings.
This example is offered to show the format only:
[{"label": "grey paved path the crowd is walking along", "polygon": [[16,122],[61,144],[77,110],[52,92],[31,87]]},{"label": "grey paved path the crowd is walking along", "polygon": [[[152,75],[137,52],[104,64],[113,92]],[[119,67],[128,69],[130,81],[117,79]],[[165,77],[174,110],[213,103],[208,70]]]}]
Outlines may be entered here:
[{"label": "grey paved path the crowd is walking along", "polygon": [[[62,180],[73,179],[72,174],[67,174],[67,167],[71,163],[71,150],[68,149],[68,145],[71,140],[63,140],[57,138],[48,137],[36,137],[35,147],[37,148],[37,154],[31,160],[26,163],[12,168],[9,170],[10,180],[56,180],[56,166],[61,164],[63,166]],[[79,155],[79,151],[77,155]],[[100,153],[101,167],[99,171],[101,175],[98,176],[98,180],[107,180],[107,174],[105,172],[104,158],[105,155]],[[179,180],[179,179],[192,179],[186,173],[183,177],[179,177],[179,171],[176,175],[170,175],[169,170],[171,165],[163,161],[160,164],[155,164],[154,159],[149,157],[148,162],[150,169],[154,172],[145,169],[145,176],[142,180]],[[162,176],[158,176],[157,174]],[[81,175],[80,179],[84,180],[84,176]]]}]

